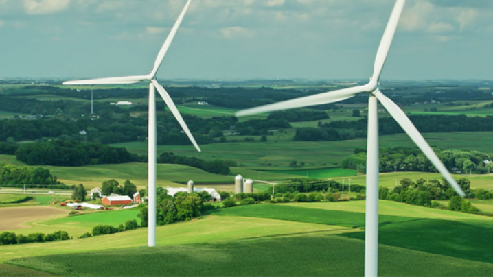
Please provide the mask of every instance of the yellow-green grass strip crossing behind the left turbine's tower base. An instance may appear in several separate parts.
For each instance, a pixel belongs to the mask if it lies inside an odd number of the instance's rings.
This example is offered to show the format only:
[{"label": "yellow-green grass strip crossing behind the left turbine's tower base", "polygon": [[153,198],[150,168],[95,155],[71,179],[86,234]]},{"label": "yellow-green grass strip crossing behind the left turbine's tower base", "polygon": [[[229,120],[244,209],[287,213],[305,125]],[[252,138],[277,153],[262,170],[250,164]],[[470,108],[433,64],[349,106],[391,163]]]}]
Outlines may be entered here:
[{"label": "yellow-green grass strip crossing behind the left turbine's tower base", "polygon": [[[184,243],[234,241],[255,237],[310,234],[312,232],[339,234],[341,232],[354,232],[354,230],[340,226],[305,224],[275,219],[208,216],[189,222],[158,226],[157,244],[180,245]],[[48,245],[49,247],[47,247]],[[147,245],[147,228],[139,228],[117,234],[70,241],[2,245],[0,262],[5,262],[12,258],[143,247],[145,245]]]}]

